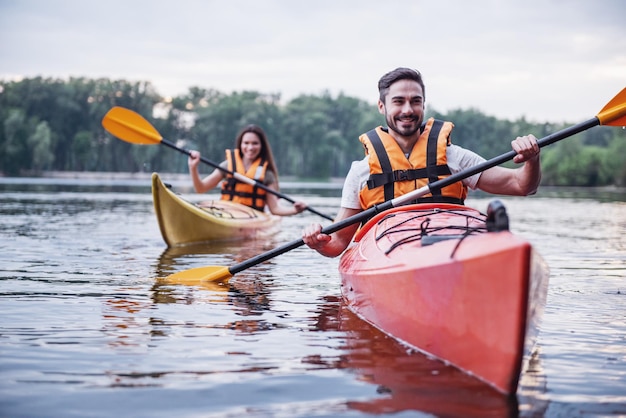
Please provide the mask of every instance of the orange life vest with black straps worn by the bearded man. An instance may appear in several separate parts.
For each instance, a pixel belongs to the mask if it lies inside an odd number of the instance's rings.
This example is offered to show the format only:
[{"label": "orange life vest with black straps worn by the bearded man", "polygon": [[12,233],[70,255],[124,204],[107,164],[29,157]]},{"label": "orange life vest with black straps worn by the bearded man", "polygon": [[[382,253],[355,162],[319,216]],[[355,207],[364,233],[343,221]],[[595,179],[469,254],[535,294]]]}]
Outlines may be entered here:
[{"label": "orange life vest with black straps worn by the bearded man", "polygon": [[[359,192],[361,207],[370,208],[448,177],[451,172],[446,147],[451,143],[452,128],[452,122],[428,119],[408,158],[381,126],[361,135],[359,141],[369,155],[370,165],[367,185]],[[411,203],[463,204],[466,197],[467,187],[459,181]]]}]

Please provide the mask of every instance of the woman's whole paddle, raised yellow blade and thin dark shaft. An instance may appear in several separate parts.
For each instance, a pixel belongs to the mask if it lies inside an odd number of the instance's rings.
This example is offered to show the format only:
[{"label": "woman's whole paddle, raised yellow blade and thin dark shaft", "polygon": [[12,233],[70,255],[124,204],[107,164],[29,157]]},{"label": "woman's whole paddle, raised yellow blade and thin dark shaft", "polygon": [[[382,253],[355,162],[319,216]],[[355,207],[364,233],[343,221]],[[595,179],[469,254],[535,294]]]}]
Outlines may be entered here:
[{"label": "woman's whole paddle, raised yellow blade and thin dark shaft", "polygon": [[[146,119],[144,119],[143,116],[141,116],[137,112],[134,112],[130,109],[126,109],[124,107],[115,106],[111,108],[111,110],[109,110],[107,114],[104,115],[104,118],[102,119],[102,126],[111,135],[116,136],[123,141],[130,142],[131,144],[141,144],[141,145],[163,144],[172,149],[175,149],[176,151],[180,151],[183,154],[186,154],[186,155],[191,154],[191,151],[183,149],[183,148],[179,148],[172,142],[163,138],[161,134],[159,134],[159,132],[155,129],[155,127],[152,126],[150,122],[148,122]],[[276,190],[273,190],[267,187],[266,185],[264,185],[263,183],[258,182],[254,179],[251,179],[249,177],[246,177],[243,174],[230,171],[224,167],[221,167],[219,164],[214,163],[213,161],[207,160],[206,158],[202,156],[200,157],[200,161],[210,166],[213,166],[219,170],[222,170],[223,172],[227,174],[230,174],[231,176],[233,176],[235,179],[237,179],[238,181],[242,183],[247,183],[252,186],[257,186],[265,190],[268,193],[272,193],[291,203],[295,203],[295,200],[291,199],[289,196],[286,196]],[[323,218],[326,218],[329,221],[333,220],[333,218],[331,218],[330,216],[324,215],[323,213],[320,213],[316,211],[315,209],[310,208],[308,206],[306,210],[313,212],[314,214],[319,215]]]}]

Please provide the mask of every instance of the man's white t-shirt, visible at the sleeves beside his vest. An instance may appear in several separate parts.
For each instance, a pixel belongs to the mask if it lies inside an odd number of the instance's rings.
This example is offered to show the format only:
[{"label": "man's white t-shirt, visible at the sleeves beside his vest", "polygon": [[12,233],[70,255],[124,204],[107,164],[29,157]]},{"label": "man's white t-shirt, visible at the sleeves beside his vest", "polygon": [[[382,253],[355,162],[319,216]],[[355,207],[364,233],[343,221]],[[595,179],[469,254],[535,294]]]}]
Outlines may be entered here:
[{"label": "man's white t-shirt, visible at the sleeves beside his vest", "polygon": [[[341,207],[347,209],[361,209],[359,202],[359,191],[363,187],[367,187],[367,179],[370,176],[370,166],[367,160],[368,156],[359,161],[353,161],[350,171],[343,183],[343,191],[341,192]],[[448,167],[452,174],[466,170],[486,161],[483,157],[473,151],[451,144],[446,147],[446,158]],[[470,189],[476,189],[480,174],[474,174],[462,180]]]}]

